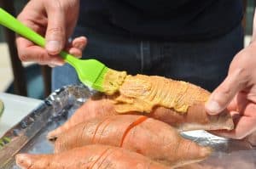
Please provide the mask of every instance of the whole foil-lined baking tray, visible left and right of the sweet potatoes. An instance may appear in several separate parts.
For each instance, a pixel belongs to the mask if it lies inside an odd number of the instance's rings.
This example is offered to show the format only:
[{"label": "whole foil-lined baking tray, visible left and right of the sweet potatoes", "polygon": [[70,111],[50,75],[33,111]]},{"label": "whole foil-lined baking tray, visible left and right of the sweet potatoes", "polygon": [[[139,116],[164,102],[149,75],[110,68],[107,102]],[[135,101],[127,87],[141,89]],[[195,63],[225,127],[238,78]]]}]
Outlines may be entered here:
[{"label": "whole foil-lined baking tray, visible left and right of the sweet potatoes", "polygon": [[[44,104],[38,106],[3,137],[11,139],[0,149],[0,168],[16,169],[15,155],[19,152],[31,154],[49,154],[53,144],[46,139],[46,134],[59,127],[81,104],[95,93],[83,85],[67,86],[51,93]],[[255,169],[256,148],[246,141],[220,138],[205,131],[182,132],[202,145],[214,149],[212,155],[199,165],[211,169]]]}]

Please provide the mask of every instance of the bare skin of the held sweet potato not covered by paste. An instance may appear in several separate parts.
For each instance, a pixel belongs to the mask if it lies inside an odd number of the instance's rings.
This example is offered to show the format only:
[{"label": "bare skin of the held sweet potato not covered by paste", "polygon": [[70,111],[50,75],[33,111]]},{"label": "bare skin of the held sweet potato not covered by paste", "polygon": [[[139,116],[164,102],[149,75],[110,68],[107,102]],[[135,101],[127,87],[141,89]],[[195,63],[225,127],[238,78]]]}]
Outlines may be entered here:
[{"label": "bare skin of the held sweet potato not covered by paste", "polygon": [[[49,132],[48,138],[55,138],[61,132],[64,132],[70,127],[73,127],[80,122],[89,121],[93,118],[102,118],[108,115],[119,115],[114,108],[115,104],[112,99],[105,95],[95,95],[87,100],[74,115],[65,122],[61,127],[58,127],[52,132]],[[124,113],[123,113],[124,114]],[[204,104],[195,104],[189,107],[187,113],[177,113],[173,109],[164,107],[154,107],[151,113],[140,113],[135,111],[127,112],[126,114],[147,115],[154,119],[164,121],[173,127],[177,127],[180,131],[189,130],[218,130],[218,129],[233,129],[234,123],[230,114],[223,112],[220,115],[207,115]]]}]

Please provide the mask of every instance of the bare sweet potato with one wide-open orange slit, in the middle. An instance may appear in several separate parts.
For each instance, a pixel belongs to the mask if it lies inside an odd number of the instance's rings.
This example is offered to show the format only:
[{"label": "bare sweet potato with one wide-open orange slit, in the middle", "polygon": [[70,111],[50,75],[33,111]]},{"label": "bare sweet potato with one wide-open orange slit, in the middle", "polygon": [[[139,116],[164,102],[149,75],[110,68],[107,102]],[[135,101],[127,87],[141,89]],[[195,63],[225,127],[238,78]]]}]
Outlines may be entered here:
[{"label": "bare sweet potato with one wide-open orange slit, in the middle", "polygon": [[144,115],[113,115],[80,123],[61,133],[55,141],[55,152],[87,144],[120,146],[168,166],[202,161],[212,151],[182,138],[165,122]]}]

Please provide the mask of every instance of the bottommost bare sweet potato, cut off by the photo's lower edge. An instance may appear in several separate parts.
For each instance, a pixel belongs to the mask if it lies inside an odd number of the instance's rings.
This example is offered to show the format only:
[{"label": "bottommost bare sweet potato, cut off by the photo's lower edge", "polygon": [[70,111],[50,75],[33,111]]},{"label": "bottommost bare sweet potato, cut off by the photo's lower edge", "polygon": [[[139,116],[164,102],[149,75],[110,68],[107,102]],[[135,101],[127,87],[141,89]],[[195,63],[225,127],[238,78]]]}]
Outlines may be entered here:
[{"label": "bottommost bare sweet potato, cut off by the photo's lower edge", "polygon": [[106,145],[89,145],[55,155],[16,155],[21,169],[168,169],[147,157],[127,149]]}]

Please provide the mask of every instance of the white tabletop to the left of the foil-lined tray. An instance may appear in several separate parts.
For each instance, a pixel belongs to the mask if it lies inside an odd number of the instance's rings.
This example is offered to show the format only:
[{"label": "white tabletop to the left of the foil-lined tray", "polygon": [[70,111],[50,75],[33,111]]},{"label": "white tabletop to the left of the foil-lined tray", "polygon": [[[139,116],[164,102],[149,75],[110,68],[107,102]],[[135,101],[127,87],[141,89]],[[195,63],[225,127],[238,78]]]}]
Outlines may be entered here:
[{"label": "white tabletop to the left of the foil-lined tray", "polygon": [[9,128],[15,126],[23,117],[42,104],[39,99],[26,98],[9,93],[0,93],[4,110],[0,118],[0,138]]}]

